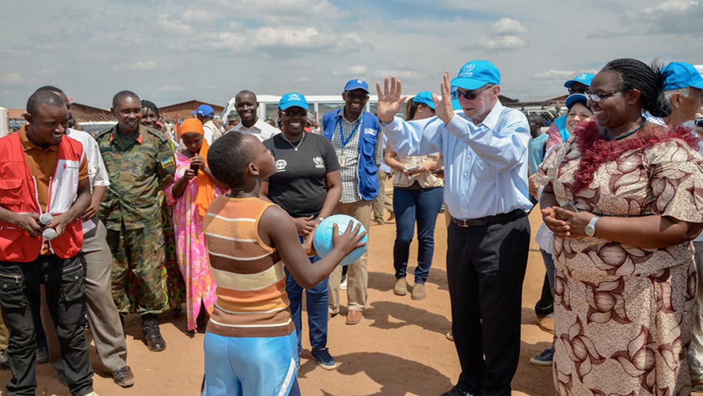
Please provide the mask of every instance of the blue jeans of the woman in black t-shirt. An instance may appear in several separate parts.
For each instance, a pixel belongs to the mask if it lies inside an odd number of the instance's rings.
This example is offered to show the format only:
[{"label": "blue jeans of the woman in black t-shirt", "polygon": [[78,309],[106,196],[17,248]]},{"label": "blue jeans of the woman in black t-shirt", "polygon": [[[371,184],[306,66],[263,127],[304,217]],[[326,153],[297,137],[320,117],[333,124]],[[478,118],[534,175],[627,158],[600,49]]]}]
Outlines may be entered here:
[{"label": "blue jeans of the woman in black t-shirt", "polygon": [[[315,263],[321,260],[319,256],[310,257],[310,262]],[[290,314],[295,323],[295,333],[298,337],[298,350],[302,348],[302,297],[303,288],[295,282],[288,269],[285,270],[285,292],[290,300]],[[321,349],[327,346],[327,319],[330,292],[327,285],[327,278],[316,284],[311,289],[306,289],[308,326],[310,327],[310,345],[312,348]]]}]

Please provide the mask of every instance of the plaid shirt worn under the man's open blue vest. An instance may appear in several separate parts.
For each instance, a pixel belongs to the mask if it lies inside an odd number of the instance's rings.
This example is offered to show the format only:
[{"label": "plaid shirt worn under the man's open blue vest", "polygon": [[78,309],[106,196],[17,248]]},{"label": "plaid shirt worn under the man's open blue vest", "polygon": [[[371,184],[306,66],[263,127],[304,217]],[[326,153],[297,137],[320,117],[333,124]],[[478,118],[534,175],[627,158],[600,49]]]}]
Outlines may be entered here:
[{"label": "plaid shirt worn under the man's open blue vest", "polygon": [[[342,166],[342,161],[340,161],[340,173],[342,174],[342,199],[340,202],[343,204],[349,204],[351,202],[361,201],[361,195],[359,195],[359,131],[355,131],[357,122],[361,119],[361,114],[359,118],[354,121],[349,121],[344,117],[344,108],[340,110],[340,114],[337,116],[337,127],[332,134],[332,147],[334,147],[335,152],[337,152],[337,158],[344,158],[344,165]],[[354,136],[347,142],[347,145],[342,147],[342,136],[340,135],[340,123],[342,124],[342,131],[344,132],[344,138],[349,138],[349,135],[354,132]],[[360,126],[361,124],[359,124]],[[373,161],[376,166],[379,166],[383,161],[383,137],[379,131],[376,137],[376,145],[373,150]]]}]

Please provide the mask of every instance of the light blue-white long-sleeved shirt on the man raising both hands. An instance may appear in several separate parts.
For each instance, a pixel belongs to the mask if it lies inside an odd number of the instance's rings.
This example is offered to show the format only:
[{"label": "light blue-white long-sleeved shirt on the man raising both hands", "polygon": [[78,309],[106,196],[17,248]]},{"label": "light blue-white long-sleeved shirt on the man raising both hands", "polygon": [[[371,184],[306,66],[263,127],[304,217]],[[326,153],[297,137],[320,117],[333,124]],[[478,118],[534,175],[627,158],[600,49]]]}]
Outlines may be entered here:
[{"label": "light blue-white long-sleeved shirt on the man raising both hands", "polygon": [[406,155],[444,154],[444,201],[455,218],[482,218],[530,209],[527,186],[527,117],[496,102],[478,125],[463,110],[449,124],[438,117],[382,126],[393,150]]}]

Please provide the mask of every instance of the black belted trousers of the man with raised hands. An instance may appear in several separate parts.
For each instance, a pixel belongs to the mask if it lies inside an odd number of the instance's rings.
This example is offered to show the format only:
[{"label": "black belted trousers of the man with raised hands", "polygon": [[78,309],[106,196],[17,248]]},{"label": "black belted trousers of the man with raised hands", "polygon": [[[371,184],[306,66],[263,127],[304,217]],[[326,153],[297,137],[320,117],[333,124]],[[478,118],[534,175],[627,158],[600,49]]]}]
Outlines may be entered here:
[{"label": "black belted trousers of the man with raised hands", "polygon": [[449,224],[446,269],[462,371],[458,386],[472,395],[510,395],[520,358],[529,237],[529,220],[520,212],[489,225]]}]

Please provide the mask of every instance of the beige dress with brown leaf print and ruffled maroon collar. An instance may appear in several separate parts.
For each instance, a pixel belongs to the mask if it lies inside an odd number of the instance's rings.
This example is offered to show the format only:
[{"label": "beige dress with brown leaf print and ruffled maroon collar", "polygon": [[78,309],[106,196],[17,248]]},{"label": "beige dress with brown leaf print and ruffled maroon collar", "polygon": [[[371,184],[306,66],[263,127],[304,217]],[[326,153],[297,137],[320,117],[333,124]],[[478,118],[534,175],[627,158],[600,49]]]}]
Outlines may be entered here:
[{"label": "beige dress with brown leaf print and ruffled maroon collar", "polygon": [[[558,204],[703,223],[703,158],[688,131],[647,124],[622,141],[594,133],[595,123],[579,128],[541,166],[537,182],[552,184]],[[688,243],[641,249],[555,237],[554,260],[557,395],[690,394],[696,273]]]}]

